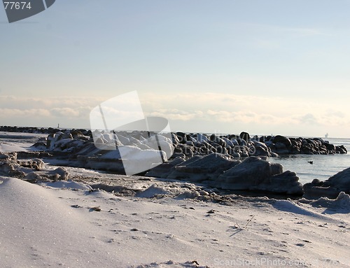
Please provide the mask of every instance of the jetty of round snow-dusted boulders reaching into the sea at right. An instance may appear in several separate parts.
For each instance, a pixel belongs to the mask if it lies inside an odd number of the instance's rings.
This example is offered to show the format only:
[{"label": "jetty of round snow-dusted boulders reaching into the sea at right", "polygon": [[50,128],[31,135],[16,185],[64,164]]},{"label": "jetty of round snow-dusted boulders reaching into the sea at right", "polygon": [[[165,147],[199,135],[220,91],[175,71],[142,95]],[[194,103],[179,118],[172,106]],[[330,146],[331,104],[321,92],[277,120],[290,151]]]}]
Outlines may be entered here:
[{"label": "jetty of round snow-dusted boulders reaching into the sea at right", "polygon": [[253,136],[247,132],[239,135],[173,134],[174,157],[193,157],[221,153],[232,157],[307,154],[329,155],[347,153],[344,146],[334,146],[321,138],[288,138],[286,136]]}]

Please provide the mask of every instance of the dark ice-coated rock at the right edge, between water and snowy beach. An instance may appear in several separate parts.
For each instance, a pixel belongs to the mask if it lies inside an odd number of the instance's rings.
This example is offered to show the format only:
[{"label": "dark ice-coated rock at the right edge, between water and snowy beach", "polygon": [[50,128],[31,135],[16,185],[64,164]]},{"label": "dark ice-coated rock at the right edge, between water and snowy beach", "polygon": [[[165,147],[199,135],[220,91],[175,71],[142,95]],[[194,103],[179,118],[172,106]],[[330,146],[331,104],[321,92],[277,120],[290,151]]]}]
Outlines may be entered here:
[{"label": "dark ice-coated rock at the right edge, between water and snowy beach", "polygon": [[318,199],[320,197],[337,198],[340,192],[350,194],[350,167],[340,171],[325,181],[314,179],[304,184],[304,197]]}]

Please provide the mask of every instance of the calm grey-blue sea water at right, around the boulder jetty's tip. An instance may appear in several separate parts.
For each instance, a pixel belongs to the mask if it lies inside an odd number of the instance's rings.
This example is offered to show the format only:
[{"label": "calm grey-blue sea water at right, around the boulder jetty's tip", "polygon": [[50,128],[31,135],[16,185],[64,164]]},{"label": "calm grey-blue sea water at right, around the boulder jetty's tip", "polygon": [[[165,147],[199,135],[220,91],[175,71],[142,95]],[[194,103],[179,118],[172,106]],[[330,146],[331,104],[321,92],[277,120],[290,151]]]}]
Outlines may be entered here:
[{"label": "calm grey-blue sea water at right, around the boulder jetty's tip", "polygon": [[[302,184],[311,182],[314,178],[325,181],[330,176],[350,167],[350,139],[327,138],[326,141],[335,146],[344,145],[348,150],[346,155],[289,155],[286,157],[269,157],[269,162],[283,165],[283,171],[294,171]],[[314,164],[309,164],[313,161]]]}]

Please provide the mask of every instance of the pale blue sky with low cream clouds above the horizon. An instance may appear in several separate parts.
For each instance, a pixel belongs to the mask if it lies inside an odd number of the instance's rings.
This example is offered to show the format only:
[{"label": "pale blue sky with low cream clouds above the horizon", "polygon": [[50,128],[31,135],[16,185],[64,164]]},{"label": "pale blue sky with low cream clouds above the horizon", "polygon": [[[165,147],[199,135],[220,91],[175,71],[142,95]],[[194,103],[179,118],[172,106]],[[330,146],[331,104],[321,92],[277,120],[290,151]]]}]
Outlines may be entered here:
[{"label": "pale blue sky with low cream clouds above the horizon", "polygon": [[137,91],[172,131],[350,137],[350,1],[57,0],[0,8],[0,125],[90,128]]}]

